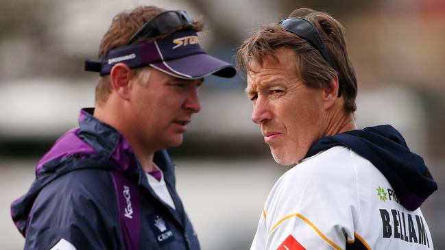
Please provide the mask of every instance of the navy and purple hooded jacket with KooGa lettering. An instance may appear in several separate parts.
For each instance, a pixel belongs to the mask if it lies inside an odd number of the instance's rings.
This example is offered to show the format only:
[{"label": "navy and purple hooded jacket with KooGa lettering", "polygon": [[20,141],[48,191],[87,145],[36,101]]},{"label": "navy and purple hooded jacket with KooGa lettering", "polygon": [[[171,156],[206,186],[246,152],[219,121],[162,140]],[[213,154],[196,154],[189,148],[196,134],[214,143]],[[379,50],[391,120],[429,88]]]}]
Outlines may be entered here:
[{"label": "navy and purple hooded jacket with KooGa lettering", "polygon": [[82,110],[36,166],[36,180],[11,205],[25,249],[51,249],[62,238],[76,249],[200,249],[176,192],[167,151],[154,155],[176,210],[149,186],[128,142]]}]

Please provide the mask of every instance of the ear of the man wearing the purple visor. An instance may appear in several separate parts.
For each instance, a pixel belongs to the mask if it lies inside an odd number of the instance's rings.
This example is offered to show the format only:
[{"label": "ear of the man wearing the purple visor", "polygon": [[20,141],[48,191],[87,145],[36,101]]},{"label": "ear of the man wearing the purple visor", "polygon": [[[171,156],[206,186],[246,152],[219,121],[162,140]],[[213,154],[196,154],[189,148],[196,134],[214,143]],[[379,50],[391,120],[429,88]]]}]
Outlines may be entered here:
[{"label": "ear of the man wearing the purple visor", "polygon": [[130,99],[130,79],[132,79],[132,69],[122,62],[115,64],[111,68],[110,79],[113,90],[122,99]]}]

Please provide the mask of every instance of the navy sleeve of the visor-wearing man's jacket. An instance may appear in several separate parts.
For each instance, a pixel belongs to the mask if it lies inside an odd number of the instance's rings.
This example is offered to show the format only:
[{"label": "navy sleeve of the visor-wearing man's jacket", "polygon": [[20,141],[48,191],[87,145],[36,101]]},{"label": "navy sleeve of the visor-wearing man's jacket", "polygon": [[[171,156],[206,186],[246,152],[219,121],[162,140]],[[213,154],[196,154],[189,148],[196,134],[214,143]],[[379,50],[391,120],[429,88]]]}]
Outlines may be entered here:
[{"label": "navy sleeve of the visor-wearing man's jacket", "polygon": [[71,171],[40,191],[25,249],[121,249],[112,180],[106,171]]}]

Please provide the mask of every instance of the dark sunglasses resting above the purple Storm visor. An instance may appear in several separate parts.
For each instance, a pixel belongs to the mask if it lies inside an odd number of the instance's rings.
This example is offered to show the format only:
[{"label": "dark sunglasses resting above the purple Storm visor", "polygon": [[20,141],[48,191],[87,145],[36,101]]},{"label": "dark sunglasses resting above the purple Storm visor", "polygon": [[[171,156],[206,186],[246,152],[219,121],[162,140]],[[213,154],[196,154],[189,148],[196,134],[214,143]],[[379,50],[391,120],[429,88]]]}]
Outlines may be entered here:
[{"label": "dark sunglasses resting above the purple Storm visor", "polygon": [[135,40],[167,34],[174,29],[180,29],[187,23],[193,23],[193,21],[184,10],[169,10],[160,13],[145,23],[141,29],[128,40],[126,45],[131,45]]}]

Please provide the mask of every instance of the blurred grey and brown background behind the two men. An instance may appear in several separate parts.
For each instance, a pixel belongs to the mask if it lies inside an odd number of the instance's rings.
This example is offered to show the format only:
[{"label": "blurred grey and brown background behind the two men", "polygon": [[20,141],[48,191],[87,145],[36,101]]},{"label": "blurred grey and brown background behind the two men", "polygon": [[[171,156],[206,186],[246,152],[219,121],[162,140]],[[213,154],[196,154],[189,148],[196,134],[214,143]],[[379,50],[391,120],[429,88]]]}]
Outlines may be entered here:
[{"label": "blurred grey and brown background behind the two men", "polygon": [[[437,183],[422,205],[435,249],[445,249],[444,0],[0,0],[0,242],[22,249],[10,203],[34,180],[34,166],[53,142],[93,106],[95,60],[112,16],[137,5],[187,10],[204,18],[202,44],[234,62],[258,27],[296,8],[333,14],[347,29],[359,80],[359,127],[390,123],[424,156]],[[178,192],[203,249],[248,249],[263,203],[289,167],[272,160],[241,77],[208,77],[182,146],[171,149]]]}]

